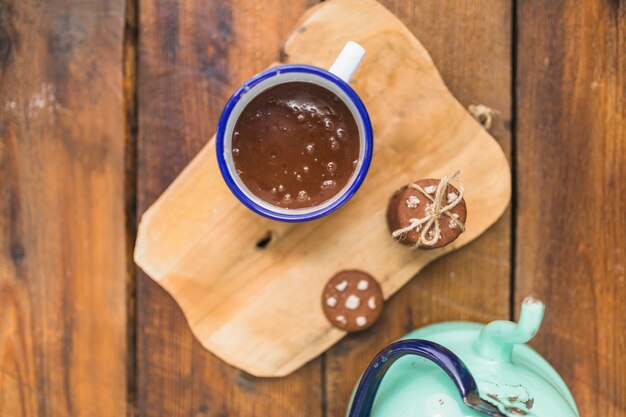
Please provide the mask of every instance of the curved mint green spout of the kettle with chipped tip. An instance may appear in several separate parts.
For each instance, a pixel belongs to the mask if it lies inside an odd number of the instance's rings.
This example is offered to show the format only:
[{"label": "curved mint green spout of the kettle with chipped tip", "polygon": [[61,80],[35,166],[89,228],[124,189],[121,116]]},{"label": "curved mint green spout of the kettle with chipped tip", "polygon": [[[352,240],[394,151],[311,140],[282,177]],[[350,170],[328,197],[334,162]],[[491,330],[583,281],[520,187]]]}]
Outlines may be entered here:
[{"label": "curved mint green spout of the kettle with chipped tip", "polygon": [[485,359],[497,362],[510,362],[513,346],[530,341],[539,330],[544,304],[533,296],[522,303],[517,323],[505,320],[493,321],[486,325],[476,341],[478,354]]}]

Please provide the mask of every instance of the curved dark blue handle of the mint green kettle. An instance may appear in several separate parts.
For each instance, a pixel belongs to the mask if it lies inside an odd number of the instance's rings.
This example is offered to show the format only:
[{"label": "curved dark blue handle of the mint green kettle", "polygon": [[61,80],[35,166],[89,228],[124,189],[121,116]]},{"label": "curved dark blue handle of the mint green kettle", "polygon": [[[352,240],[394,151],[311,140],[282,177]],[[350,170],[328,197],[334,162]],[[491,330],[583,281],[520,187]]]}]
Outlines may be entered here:
[{"label": "curved dark blue handle of the mint green kettle", "polygon": [[420,356],[441,367],[452,379],[468,407],[486,415],[506,417],[496,407],[480,398],[476,380],[461,358],[437,343],[420,339],[400,340],[376,355],[361,377],[348,417],[370,417],[376,393],[385,374],[395,361],[405,355]]}]

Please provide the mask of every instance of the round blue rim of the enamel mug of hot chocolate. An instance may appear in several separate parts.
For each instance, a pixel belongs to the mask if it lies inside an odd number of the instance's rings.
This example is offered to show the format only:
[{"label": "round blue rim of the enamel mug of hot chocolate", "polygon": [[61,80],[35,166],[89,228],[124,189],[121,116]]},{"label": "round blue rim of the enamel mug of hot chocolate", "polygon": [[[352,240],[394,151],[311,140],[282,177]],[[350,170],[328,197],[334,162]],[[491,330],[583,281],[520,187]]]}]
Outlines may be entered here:
[{"label": "round blue rim of the enamel mug of hot chocolate", "polygon": [[[364,136],[364,156],[363,163],[361,164],[361,168],[359,172],[356,173],[356,177],[352,184],[342,192],[341,196],[335,200],[332,204],[328,206],[322,207],[319,210],[309,211],[307,213],[299,213],[297,209],[294,209],[293,213],[284,213],[270,210],[266,207],[263,207],[256,203],[254,200],[250,199],[246,193],[237,185],[233,176],[228,169],[228,164],[224,157],[224,135],[226,133],[226,125],[228,120],[230,119],[230,115],[235,108],[235,105],[239,102],[241,97],[247,93],[252,87],[256,86],[260,82],[274,77],[279,74],[286,73],[304,73],[304,74],[313,74],[319,77],[322,77],[328,81],[336,84],[352,101],[354,106],[357,109],[359,117],[363,121],[363,136]],[[216,154],[217,154],[217,163],[230,191],[237,197],[239,201],[241,201],[246,207],[248,207],[253,212],[265,216],[272,220],[278,220],[283,222],[303,222],[308,220],[318,219],[320,217],[326,216],[327,214],[332,213],[337,210],[339,207],[343,206],[354,194],[357,192],[365,176],[367,175],[367,171],[369,170],[370,164],[372,162],[372,151],[374,147],[374,139],[372,133],[372,123],[369,118],[369,114],[361,101],[361,98],[357,95],[357,93],[350,87],[348,83],[343,81],[341,78],[336,75],[328,72],[327,70],[319,67],[315,67],[312,65],[303,65],[303,64],[288,64],[288,65],[279,65],[276,67],[272,67],[266,71],[263,71],[254,77],[250,78],[246,81],[226,103],[224,107],[224,111],[220,116],[220,120],[217,125],[217,134],[216,134]],[[252,194],[252,192],[250,192]]]}]

